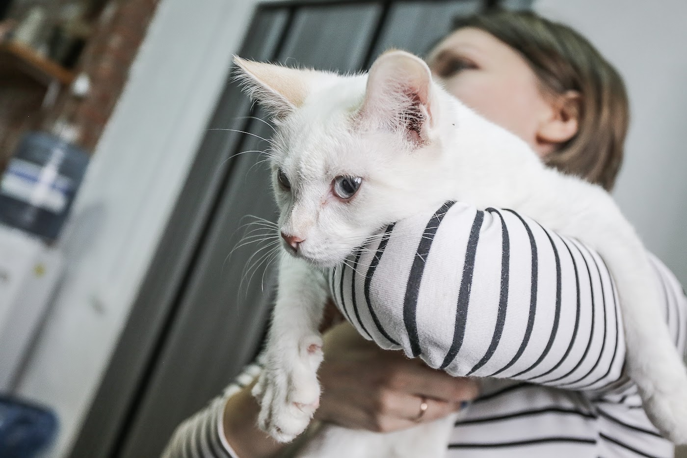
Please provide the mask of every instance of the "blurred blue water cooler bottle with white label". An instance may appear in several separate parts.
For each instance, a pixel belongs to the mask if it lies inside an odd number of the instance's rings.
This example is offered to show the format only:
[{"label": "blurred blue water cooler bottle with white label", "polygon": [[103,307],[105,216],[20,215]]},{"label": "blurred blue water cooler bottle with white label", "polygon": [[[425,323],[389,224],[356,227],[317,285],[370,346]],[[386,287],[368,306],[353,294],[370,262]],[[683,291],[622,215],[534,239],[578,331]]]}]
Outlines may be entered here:
[{"label": "blurred blue water cooler bottle with white label", "polygon": [[89,162],[72,142],[76,129],[29,132],[0,180],[0,221],[53,241],[67,218]]}]

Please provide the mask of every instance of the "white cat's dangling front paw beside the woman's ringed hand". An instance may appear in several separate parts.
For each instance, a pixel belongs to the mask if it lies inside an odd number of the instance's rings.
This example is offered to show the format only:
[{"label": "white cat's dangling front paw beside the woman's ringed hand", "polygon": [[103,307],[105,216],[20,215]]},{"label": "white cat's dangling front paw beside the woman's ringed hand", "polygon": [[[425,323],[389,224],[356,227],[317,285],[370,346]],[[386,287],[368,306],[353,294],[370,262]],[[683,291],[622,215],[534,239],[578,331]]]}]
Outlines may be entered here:
[{"label": "white cat's dangling front paw beside the woman's ringed hand", "polygon": [[289,442],[305,430],[319,406],[317,367],[302,362],[289,368],[265,367],[252,393],[260,404],[260,429]]}]

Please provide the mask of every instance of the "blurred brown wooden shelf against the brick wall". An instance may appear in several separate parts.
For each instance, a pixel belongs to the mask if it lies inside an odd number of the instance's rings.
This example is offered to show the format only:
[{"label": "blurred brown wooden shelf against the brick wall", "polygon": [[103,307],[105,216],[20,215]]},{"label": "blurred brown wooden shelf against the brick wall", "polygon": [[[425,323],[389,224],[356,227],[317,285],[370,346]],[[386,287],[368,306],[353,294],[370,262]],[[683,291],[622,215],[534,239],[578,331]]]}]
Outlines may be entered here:
[{"label": "blurred brown wooden shelf against the brick wall", "polygon": [[0,75],[28,76],[45,86],[58,80],[68,86],[74,73],[19,43],[0,43]]}]

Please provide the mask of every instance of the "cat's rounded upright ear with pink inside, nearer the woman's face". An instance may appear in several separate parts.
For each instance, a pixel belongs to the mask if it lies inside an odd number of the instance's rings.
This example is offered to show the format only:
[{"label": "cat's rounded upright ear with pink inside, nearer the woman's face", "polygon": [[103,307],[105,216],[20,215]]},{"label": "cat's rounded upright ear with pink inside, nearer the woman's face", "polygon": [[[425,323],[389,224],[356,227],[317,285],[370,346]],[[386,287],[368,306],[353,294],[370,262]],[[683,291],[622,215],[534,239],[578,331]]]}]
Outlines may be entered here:
[{"label": "cat's rounded upright ear with pink inside, nearer the woman's face", "polygon": [[434,87],[425,61],[405,51],[385,52],[372,64],[361,115],[406,130],[415,142],[433,126]]}]

